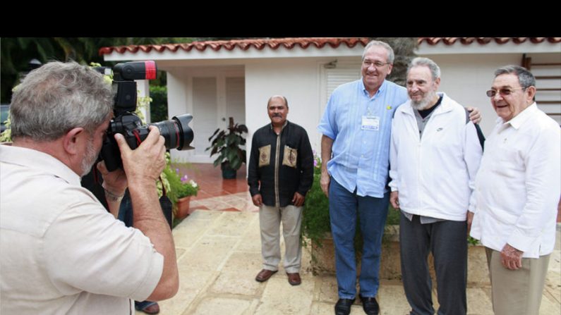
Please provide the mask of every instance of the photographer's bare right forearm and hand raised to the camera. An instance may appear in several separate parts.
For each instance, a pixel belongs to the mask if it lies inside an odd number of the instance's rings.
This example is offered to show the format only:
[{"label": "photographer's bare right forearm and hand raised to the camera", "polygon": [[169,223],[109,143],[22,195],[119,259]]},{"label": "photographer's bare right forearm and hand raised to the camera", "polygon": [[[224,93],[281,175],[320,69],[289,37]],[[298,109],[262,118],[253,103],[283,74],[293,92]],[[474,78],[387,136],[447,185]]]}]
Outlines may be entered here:
[{"label": "photographer's bare right forearm and hand raised to the camera", "polygon": [[133,226],[149,237],[157,252],[164,256],[162,276],[147,300],[169,299],[179,289],[179,274],[174,239],[159,206],[156,190],[156,180],[166,164],[164,137],[159,135],[157,127],[150,126],[150,134],[135,150],[128,147],[122,135],[116,134],[115,139],[121,150],[133,202]]}]

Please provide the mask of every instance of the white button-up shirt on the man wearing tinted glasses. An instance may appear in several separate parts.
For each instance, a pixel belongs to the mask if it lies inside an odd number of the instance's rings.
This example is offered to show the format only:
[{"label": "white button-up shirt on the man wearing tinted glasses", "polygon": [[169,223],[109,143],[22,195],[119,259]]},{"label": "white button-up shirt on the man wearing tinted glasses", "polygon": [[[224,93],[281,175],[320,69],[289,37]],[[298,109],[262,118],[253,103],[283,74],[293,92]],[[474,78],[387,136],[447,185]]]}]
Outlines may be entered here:
[{"label": "white button-up shirt on the man wearing tinted glasses", "polygon": [[471,236],[539,258],[553,252],[561,192],[561,129],[536,103],[497,125],[476,177]]}]

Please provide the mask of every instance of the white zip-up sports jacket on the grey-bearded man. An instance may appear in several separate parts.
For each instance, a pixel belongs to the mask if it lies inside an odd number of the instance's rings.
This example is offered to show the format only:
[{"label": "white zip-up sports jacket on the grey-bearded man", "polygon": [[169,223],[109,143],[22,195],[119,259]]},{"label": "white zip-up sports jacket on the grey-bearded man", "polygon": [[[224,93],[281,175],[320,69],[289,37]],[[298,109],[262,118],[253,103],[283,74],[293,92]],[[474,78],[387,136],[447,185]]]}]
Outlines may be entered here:
[{"label": "white zip-up sports jacket on the grey-bearded man", "polygon": [[466,111],[444,93],[423,137],[411,100],[392,121],[390,187],[399,192],[402,211],[451,221],[466,221],[473,211],[473,188],[483,149]]}]

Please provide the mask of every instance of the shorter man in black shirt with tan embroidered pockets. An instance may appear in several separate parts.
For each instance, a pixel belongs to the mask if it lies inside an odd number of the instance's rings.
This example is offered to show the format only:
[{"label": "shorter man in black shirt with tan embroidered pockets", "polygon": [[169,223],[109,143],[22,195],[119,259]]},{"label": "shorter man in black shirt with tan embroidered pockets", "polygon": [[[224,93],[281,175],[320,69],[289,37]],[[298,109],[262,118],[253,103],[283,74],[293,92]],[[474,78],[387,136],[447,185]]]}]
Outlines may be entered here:
[{"label": "shorter man in black shirt with tan embroidered pockets", "polygon": [[278,271],[281,260],[279,226],[282,222],[284,271],[291,285],[299,285],[300,226],[306,192],[313,183],[313,154],[306,130],[286,121],[288,101],[275,95],[267,102],[271,123],[253,134],[248,185],[253,204],[259,206],[263,282]]}]

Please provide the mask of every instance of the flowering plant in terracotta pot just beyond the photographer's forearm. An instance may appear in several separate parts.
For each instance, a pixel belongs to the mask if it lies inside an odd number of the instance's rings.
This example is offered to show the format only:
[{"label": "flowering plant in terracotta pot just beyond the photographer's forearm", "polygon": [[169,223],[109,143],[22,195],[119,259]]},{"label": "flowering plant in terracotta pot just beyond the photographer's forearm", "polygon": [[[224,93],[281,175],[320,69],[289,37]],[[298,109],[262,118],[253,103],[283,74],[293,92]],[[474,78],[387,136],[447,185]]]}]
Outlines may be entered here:
[{"label": "flowering plant in terracotta pot just beyond the photographer's forearm", "polygon": [[189,180],[187,175],[179,175],[179,169],[171,171],[167,166],[164,168],[164,175],[169,182],[168,197],[174,204],[174,218],[185,218],[192,212],[189,208],[191,196],[196,196],[200,187],[194,180]]}]

